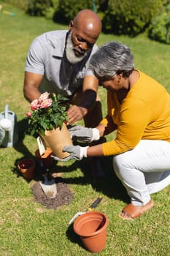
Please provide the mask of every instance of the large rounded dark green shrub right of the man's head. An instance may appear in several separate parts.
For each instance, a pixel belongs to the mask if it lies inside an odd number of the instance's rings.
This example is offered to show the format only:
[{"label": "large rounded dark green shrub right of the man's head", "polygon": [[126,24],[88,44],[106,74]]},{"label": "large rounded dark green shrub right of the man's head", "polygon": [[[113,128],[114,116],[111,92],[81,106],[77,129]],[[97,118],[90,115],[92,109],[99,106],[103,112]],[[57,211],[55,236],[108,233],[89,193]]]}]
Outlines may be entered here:
[{"label": "large rounded dark green shrub right of the man's head", "polygon": [[167,0],[109,0],[103,19],[104,31],[135,36],[144,31],[161,12]]}]

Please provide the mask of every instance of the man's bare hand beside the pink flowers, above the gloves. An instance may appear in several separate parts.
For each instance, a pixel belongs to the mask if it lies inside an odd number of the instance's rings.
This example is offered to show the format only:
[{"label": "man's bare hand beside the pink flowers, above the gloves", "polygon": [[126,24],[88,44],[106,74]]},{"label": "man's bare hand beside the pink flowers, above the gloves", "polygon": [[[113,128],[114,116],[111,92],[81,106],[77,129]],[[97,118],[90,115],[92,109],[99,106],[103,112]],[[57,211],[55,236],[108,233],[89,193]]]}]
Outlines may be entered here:
[{"label": "man's bare hand beside the pink flowers, above the gloves", "polygon": [[78,107],[77,105],[73,105],[67,111],[67,116],[69,118],[69,124],[74,124],[76,121],[80,121],[83,116],[88,113],[86,108]]}]

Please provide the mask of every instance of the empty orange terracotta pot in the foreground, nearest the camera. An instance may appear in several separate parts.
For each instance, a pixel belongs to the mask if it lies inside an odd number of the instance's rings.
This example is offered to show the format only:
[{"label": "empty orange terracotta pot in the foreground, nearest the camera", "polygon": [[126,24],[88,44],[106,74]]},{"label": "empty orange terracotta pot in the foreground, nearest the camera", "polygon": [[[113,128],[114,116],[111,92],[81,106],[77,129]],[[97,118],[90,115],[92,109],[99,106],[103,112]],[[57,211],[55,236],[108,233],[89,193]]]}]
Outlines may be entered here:
[{"label": "empty orange terracotta pot in the foreground, nearest the camera", "polygon": [[82,244],[90,252],[101,252],[107,242],[108,218],[98,211],[90,211],[78,217],[73,225]]}]

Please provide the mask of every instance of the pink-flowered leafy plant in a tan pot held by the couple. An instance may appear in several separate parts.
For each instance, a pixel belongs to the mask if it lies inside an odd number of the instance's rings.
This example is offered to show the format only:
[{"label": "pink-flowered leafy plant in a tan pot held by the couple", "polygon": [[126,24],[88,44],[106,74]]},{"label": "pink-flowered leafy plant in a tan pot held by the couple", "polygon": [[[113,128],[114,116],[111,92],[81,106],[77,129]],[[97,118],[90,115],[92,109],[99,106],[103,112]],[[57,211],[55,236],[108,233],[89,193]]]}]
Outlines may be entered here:
[{"label": "pink-flowered leafy plant in a tan pot held by the couple", "polygon": [[39,134],[46,147],[49,146],[57,157],[67,157],[63,146],[72,145],[69,131],[66,127],[68,116],[66,112],[66,97],[61,94],[45,92],[31,102],[28,117],[28,132]]}]

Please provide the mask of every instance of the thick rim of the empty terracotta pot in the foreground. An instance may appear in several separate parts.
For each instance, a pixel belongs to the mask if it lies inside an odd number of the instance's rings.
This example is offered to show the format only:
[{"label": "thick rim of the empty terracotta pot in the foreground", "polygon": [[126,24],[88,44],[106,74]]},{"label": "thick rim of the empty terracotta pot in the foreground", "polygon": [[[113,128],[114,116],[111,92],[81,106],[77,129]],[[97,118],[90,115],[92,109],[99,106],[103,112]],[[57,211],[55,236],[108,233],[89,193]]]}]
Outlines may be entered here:
[{"label": "thick rim of the empty terracotta pot in the foreground", "polygon": [[[80,229],[77,228],[77,225],[82,225],[84,222],[84,219],[88,220],[92,216],[94,216],[93,219],[91,219],[92,221],[96,220],[95,216],[102,217],[101,222],[104,221],[104,224],[102,225],[102,227],[99,230],[94,231],[93,233],[89,233],[89,235],[87,235],[87,233],[80,232]],[[74,222],[73,229],[74,229],[74,232],[77,233],[77,235],[82,236],[82,237],[96,236],[96,235],[98,235],[98,233],[101,233],[103,230],[106,229],[108,223],[109,223],[109,219],[108,219],[107,215],[103,214],[100,211],[90,211],[85,214],[82,214],[80,217],[77,217],[77,219]]]}]

